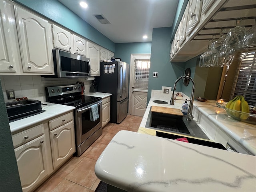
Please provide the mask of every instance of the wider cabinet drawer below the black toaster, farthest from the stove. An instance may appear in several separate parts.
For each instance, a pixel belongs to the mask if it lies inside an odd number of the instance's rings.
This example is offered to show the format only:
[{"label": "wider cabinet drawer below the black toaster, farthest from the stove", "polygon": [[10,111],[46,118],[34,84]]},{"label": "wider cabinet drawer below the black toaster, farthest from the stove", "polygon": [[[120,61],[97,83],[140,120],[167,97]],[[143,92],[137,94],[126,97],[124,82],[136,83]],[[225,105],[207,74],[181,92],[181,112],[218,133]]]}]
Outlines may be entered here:
[{"label": "wider cabinet drawer below the black toaster, farthest from the stove", "polygon": [[28,130],[22,131],[12,136],[12,142],[14,148],[21,146],[22,144],[37,138],[44,134],[44,125],[40,124],[38,126],[32,127]]}]

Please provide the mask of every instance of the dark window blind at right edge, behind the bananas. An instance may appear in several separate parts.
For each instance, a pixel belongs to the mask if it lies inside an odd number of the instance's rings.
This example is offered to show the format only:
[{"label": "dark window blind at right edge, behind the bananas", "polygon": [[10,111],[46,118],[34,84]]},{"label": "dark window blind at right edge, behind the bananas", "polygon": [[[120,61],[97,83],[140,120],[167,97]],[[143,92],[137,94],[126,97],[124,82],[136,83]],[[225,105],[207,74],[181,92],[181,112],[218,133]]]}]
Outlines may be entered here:
[{"label": "dark window blind at right edge, behind the bananas", "polygon": [[234,96],[243,95],[249,105],[256,106],[256,52],[249,52],[242,60]]}]

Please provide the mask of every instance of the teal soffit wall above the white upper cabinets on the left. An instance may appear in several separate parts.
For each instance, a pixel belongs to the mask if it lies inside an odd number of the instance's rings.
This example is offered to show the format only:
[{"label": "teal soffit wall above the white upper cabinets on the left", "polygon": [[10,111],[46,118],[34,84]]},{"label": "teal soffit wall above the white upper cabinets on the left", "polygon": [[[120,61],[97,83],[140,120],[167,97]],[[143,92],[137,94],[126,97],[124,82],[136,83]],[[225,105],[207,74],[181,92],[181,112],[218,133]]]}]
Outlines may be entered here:
[{"label": "teal soffit wall above the white upper cabinets on the left", "polygon": [[115,52],[115,44],[90,24],[74,14],[57,0],[15,0],[50,20],[84,36],[100,46]]}]

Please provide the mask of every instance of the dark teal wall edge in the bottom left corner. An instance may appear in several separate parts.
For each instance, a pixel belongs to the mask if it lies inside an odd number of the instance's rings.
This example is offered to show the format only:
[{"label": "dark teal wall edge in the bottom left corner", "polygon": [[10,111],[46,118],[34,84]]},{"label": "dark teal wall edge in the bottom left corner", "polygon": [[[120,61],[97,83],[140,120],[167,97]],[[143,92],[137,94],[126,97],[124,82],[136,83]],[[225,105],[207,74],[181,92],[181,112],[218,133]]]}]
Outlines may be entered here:
[{"label": "dark teal wall edge in the bottom left corner", "polygon": [[0,189],[22,192],[0,78]]}]

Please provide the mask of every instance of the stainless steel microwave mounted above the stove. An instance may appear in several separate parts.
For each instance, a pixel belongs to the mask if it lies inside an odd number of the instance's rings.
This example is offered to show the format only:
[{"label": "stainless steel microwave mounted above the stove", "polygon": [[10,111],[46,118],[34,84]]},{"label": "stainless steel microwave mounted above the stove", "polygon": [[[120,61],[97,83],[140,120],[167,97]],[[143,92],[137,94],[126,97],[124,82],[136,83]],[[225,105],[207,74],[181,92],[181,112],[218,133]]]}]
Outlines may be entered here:
[{"label": "stainless steel microwave mounted above the stove", "polygon": [[52,50],[55,76],[59,78],[90,77],[90,59],[81,55]]}]

